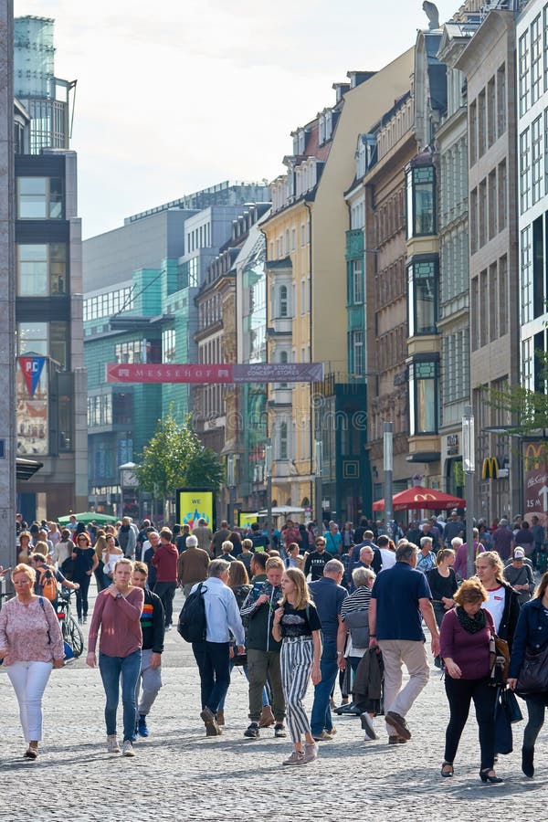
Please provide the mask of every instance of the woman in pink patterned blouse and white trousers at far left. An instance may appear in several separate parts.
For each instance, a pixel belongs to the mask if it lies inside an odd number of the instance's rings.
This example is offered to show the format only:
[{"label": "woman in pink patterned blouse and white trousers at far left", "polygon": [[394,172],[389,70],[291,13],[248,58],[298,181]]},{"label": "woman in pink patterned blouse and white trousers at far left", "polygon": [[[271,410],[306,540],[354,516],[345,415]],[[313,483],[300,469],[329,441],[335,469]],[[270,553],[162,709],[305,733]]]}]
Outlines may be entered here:
[{"label": "woman in pink patterned blouse and white trousers at far left", "polygon": [[[36,548],[36,546],[35,546]],[[18,564],[12,571],[13,599],[0,611],[0,659],[19,703],[28,745],[25,756],[37,759],[42,739],[42,696],[53,668],[63,667],[63,637],[53,606],[34,594],[36,571]]]}]

